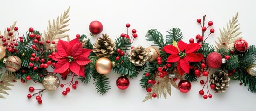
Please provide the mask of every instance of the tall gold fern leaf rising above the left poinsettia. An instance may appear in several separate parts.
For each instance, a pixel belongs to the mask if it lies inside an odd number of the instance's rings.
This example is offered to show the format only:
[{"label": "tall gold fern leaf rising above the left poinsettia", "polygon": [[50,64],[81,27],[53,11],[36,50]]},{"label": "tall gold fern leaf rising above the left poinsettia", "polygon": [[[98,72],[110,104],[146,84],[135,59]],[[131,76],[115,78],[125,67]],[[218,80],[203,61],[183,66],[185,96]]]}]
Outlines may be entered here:
[{"label": "tall gold fern leaf rising above the left poinsettia", "polygon": [[[67,40],[69,41],[69,35],[68,34],[64,34],[65,32],[69,31],[70,29],[65,29],[69,24],[67,24],[69,22],[70,19],[68,19],[69,17],[69,8],[64,11],[63,14],[61,14],[61,16],[57,18],[57,20],[55,21],[55,19],[53,19],[53,24],[51,24],[50,20],[49,20],[49,26],[47,27],[47,31],[44,31],[44,38],[42,38],[43,41],[45,40],[50,40],[50,41],[55,41],[56,43],[58,42],[58,39],[62,39],[62,38],[67,38]],[[45,43],[47,48],[52,48],[55,49],[56,45],[54,44],[48,44]]]}]

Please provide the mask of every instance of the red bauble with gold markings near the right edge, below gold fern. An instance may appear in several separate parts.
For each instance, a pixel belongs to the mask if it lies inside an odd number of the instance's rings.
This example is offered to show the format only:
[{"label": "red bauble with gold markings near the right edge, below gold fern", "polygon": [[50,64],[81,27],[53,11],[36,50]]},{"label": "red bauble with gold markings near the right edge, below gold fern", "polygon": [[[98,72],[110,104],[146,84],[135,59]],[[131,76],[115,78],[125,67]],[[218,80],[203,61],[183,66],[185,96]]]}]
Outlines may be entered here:
[{"label": "red bauble with gold markings near the right edge, below gold fern", "polygon": [[234,48],[236,52],[243,53],[248,49],[248,43],[243,39],[238,39],[234,43]]}]

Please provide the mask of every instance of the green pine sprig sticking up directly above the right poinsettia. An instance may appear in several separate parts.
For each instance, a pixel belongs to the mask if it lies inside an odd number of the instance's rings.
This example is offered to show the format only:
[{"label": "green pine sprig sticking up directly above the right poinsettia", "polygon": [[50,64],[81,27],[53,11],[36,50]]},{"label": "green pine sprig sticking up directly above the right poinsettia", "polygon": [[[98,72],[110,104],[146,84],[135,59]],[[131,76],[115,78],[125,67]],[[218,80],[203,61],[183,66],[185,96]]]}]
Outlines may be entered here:
[{"label": "green pine sprig sticking up directly above the right poinsettia", "polygon": [[173,40],[176,42],[183,39],[182,32],[180,28],[172,28],[167,31],[169,34],[166,35],[166,45],[171,45],[173,43]]}]

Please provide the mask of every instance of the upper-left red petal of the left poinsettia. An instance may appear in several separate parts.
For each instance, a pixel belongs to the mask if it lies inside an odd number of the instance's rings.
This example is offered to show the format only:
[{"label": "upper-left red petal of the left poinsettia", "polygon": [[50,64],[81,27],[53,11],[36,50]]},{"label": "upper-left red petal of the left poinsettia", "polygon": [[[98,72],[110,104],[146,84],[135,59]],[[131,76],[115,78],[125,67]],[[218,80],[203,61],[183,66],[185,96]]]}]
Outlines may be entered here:
[{"label": "upper-left red petal of the left poinsettia", "polygon": [[66,50],[69,47],[69,43],[67,41],[63,41],[59,39],[59,42],[57,43],[57,51],[60,56],[68,56],[66,53]]}]

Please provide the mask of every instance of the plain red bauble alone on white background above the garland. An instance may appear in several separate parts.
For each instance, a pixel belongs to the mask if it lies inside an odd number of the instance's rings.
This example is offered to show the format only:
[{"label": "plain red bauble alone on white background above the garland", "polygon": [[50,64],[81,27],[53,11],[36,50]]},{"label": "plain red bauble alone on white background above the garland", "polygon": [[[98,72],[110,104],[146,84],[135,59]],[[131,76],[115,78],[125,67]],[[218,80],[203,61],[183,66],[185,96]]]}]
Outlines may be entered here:
[{"label": "plain red bauble alone on white background above the garland", "polygon": [[103,25],[99,21],[92,21],[89,25],[89,30],[92,34],[99,34],[103,30]]}]

